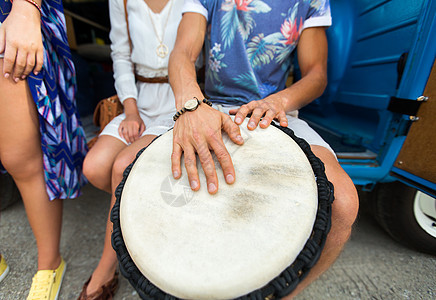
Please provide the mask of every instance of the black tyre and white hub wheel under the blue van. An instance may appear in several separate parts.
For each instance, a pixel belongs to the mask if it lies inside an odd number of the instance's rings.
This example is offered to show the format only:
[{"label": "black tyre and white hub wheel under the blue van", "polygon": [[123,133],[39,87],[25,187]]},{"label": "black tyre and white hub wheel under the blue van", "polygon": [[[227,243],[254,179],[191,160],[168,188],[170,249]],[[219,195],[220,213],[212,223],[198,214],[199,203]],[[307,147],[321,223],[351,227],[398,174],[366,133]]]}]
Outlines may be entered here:
[{"label": "black tyre and white hub wheel under the blue van", "polygon": [[398,242],[436,255],[436,199],[401,182],[377,185],[371,210]]}]

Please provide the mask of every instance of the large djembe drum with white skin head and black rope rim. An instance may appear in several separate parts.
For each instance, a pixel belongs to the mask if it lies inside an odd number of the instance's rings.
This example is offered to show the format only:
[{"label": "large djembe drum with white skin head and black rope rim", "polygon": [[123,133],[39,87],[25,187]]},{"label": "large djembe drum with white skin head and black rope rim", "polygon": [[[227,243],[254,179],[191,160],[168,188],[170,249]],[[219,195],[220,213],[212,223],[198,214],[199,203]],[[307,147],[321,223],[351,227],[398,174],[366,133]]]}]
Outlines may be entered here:
[{"label": "large djembe drum with white skin head and black rope rim", "polygon": [[236,181],[193,192],[171,175],[172,131],[124,172],[112,209],[121,273],[143,299],[279,299],[316,263],[330,229],[333,188],[292,130],[241,126],[225,138]]}]

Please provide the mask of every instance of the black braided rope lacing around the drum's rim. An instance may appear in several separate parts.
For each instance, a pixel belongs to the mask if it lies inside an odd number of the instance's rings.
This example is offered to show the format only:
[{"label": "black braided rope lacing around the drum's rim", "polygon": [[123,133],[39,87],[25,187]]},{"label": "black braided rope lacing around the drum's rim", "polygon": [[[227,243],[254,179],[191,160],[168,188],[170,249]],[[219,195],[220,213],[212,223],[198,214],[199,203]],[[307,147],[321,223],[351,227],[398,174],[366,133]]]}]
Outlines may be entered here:
[{"label": "black braided rope lacing around the drum's rim", "polygon": [[[334,199],[333,185],[327,180],[324,164],[313,154],[310,145],[304,139],[296,137],[291,129],[274,123],[272,125],[291,137],[306,154],[317,183],[318,211],[311,236],[295,261],[265,287],[239,297],[238,300],[271,300],[289,295],[318,261],[331,226],[331,204]],[[111,212],[111,221],[113,223],[112,247],[117,253],[121,274],[129,280],[142,299],[175,300],[178,298],[163,292],[142,275],[127,251],[121,232],[119,219],[121,194],[130,170],[145,149],[139,151],[133,163],[126,168],[123,173],[123,180],[115,191],[116,202]]]}]

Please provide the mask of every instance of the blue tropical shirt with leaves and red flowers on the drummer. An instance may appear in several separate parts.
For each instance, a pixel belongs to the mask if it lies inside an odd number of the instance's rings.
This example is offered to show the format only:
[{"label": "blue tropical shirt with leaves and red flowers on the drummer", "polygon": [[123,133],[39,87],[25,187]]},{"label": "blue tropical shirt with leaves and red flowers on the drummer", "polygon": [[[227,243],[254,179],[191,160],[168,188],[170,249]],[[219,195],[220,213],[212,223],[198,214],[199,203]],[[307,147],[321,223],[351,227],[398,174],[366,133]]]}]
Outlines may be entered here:
[{"label": "blue tropical shirt with leaves and red flowers on the drummer", "polygon": [[285,88],[302,31],[330,26],[329,0],[185,0],[208,21],[205,92],[242,105]]}]

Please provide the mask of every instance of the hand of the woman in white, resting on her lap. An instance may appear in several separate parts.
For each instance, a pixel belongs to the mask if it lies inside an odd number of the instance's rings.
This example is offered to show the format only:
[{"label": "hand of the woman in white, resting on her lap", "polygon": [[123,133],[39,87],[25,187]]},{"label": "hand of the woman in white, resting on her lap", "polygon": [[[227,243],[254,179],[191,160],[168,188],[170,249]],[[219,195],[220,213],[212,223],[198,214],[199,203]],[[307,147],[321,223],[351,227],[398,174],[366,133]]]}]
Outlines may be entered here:
[{"label": "hand of the woman in white, resting on her lap", "polygon": [[124,100],[123,105],[126,118],[121,121],[118,132],[127,143],[131,144],[141,137],[145,130],[145,124],[139,116],[135,99],[128,98]]}]

